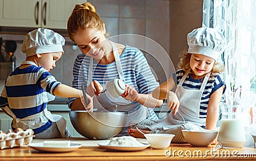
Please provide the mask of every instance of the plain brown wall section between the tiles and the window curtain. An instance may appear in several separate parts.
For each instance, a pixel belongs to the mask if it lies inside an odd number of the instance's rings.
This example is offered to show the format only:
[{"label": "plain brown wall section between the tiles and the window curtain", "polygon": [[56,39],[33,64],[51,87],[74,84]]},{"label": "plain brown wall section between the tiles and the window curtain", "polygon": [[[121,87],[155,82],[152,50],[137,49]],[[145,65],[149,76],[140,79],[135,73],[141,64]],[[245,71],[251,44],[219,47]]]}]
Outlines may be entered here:
[{"label": "plain brown wall section between the tiles and the window curtain", "polygon": [[187,34],[202,26],[203,0],[170,0],[170,57],[177,67],[180,54],[188,50]]}]

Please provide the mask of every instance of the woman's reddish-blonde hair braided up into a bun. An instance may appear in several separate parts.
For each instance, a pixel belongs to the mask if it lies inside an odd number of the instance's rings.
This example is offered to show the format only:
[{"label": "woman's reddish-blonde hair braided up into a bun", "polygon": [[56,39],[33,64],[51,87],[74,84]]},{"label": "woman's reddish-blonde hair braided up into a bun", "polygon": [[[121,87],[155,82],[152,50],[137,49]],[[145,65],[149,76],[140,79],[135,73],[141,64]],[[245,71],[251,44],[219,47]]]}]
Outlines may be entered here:
[{"label": "woman's reddish-blonde hair braided up into a bun", "polygon": [[97,28],[104,31],[104,22],[91,3],[76,4],[68,18],[67,31],[69,38],[74,42],[74,35],[77,31],[86,28]]}]

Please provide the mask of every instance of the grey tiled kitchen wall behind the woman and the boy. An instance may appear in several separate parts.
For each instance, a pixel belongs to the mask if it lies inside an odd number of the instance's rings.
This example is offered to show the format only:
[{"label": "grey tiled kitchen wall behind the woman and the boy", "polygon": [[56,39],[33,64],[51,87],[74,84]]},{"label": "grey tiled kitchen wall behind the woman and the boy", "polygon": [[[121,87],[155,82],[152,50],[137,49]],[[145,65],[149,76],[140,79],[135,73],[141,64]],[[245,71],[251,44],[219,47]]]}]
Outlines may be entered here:
[{"label": "grey tiled kitchen wall behind the woman and the boy", "polygon": [[[91,2],[100,17],[106,24],[106,32],[110,36],[118,34],[140,34],[146,36],[157,43],[159,43],[166,52],[169,52],[170,48],[170,19],[169,19],[169,1],[166,0],[92,0]],[[19,40],[17,41],[17,50],[15,56],[17,57],[17,65],[26,58],[20,51],[21,43],[24,38],[22,35],[13,34],[0,34],[3,40]],[[70,41],[69,38],[66,39]],[[118,40],[117,42],[126,43],[132,45],[136,43],[136,40]],[[52,71],[52,75],[56,77],[58,81],[64,84],[72,84],[72,68],[74,59],[79,54],[79,49],[72,49],[72,44],[65,45],[65,54],[61,57],[60,61],[56,63],[56,68]],[[150,57],[146,56],[148,59]],[[161,72],[161,68],[157,68],[154,59],[148,60],[150,66],[152,66],[159,81],[164,80],[164,73]],[[154,67],[153,67],[154,65]]]}]

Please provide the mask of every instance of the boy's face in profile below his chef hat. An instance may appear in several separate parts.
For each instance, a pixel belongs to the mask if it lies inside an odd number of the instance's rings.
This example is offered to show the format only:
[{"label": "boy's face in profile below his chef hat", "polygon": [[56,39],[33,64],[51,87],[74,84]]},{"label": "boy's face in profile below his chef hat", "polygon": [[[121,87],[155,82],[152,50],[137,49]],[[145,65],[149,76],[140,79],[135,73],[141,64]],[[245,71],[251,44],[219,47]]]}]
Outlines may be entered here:
[{"label": "boy's face in profile below his chef hat", "polygon": [[45,70],[51,72],[51,70],[56,66],[56,61],[61,58],[62,54],[63,52],[38,54],[38,59],[36,61],[38,63],[38,66],[43,66]]}]

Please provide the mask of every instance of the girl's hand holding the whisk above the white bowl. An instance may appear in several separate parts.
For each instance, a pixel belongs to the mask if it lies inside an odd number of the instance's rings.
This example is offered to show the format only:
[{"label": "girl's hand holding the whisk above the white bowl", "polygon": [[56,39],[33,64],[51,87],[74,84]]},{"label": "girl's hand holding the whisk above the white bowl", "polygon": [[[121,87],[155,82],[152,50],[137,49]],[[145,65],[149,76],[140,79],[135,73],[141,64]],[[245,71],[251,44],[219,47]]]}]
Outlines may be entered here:
[{"label": "girl's hand holding the whisk above the white bowl", "polygon": [[167,106],[170,109],[174,110],[173,114],[176,114],[180,105],[177,95],[172,91],[168,91],[166,99],[167,99]]}]

